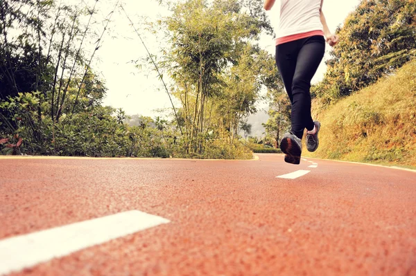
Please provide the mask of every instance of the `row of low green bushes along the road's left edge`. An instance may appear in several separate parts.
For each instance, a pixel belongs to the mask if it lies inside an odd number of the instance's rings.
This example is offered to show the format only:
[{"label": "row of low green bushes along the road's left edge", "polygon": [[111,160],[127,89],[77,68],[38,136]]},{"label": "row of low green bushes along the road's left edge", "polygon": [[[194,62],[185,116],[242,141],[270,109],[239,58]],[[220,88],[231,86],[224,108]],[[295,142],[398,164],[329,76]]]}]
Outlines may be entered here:
[{"label": "row of low green bushes along the road's left edge", "polygon": [[[123,123],[123,114],[112,107],[92,107],[85,111],[62,114],[53,123],[48,107],[40,106],[40,93],[21,93],[8,101],[0,102],[1,138],[21,138],[19,145],[4,140],[1,154],[28,154],[53,156],[92,157],[150,157],[150,158],[203,158],[250,159],[252,151],[235,140],[200,136],[200,148],[189,154],[189,143],[177,134],[166,120],[139,118],[135,126]],[[41,111],[41,120],[38,111]],[[3,116],[6,114],[6,116]],[[10,142],[9,141],[9,142]],[[4,149],[3,149],[4,148]]]}]

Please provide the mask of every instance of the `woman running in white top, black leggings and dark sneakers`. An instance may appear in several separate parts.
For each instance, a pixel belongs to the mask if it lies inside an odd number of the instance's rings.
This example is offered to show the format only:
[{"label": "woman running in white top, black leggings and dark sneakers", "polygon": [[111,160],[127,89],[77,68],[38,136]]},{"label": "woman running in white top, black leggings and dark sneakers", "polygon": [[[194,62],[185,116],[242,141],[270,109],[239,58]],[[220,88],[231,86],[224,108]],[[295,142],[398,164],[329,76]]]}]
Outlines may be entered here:
[{"label": "woman running in white top, black leggings and dark sneakers", "polygon": [[[276,0],[265,0],[270,10]],[[325,52],[325,40],[330,46],[338,43],[331,34],[322,12],[324,0],[278,0],[280,21],[276,39],[276,64],[291,100],[291,131],[284,134],[280,149],[287,163],[299,164],[302,136],[306,128],[306,148],[318,148],[320,122],[311,116],[311,80]]]}]

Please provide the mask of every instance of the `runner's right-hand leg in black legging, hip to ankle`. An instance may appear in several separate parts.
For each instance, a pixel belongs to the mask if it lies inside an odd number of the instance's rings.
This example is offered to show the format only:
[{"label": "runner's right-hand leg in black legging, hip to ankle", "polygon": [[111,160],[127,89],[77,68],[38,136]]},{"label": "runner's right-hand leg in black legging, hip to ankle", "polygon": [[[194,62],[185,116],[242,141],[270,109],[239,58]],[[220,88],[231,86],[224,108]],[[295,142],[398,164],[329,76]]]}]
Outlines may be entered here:
[{"label": "runner's right-hand leg in black legging, hip to ankle", "polygon": [[293,96],[291,120],[292,132],[300,139],[302,139],[305,128],[312,130],[314,127],[311,117],[311,80],[322,57],[324,57],[324,53],[324,37],[315,36],[304,39],[302,48],[297,54],[291,87]]}]

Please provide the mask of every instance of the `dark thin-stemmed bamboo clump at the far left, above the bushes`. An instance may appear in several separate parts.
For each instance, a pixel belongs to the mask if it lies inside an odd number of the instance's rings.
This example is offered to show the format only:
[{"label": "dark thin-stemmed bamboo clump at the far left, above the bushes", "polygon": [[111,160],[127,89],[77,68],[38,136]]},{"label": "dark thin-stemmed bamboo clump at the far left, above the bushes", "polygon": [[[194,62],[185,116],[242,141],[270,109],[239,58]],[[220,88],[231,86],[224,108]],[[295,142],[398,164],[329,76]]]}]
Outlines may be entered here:
[{"label": "dark thin-stemmed bamboo clump at the far left, above the bushes", "polygon": [[87,58],[97,3],[80,8],[53,0],[0,1],[1,136],[24,131],[25,141],[36,145],[31,150],[43,151],[62,118],[101,104],[106,88],[89,65],[112,12]]}]

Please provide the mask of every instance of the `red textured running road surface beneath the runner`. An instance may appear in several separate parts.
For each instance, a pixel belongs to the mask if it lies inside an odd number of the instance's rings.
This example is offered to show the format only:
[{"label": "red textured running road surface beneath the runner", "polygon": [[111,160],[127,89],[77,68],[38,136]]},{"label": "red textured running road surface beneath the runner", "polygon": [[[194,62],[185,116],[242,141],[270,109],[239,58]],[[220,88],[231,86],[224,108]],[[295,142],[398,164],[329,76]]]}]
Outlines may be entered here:
[{"label": "red textured running road surface beneath the runner", "polygon": [[0,159],[0,240],[128,210],[171,221],[11,275],[416,275],[415,172],[259,157]]}]

